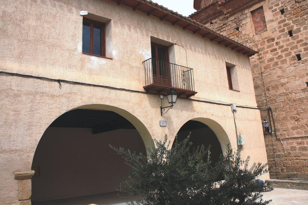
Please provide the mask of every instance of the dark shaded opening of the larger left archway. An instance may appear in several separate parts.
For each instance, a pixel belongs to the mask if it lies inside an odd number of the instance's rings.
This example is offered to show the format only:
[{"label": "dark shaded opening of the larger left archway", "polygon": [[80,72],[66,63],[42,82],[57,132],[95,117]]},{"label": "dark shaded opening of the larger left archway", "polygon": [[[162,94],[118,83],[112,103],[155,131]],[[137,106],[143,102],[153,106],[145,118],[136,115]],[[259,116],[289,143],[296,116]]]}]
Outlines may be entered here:
[{"label": "dark shaded opening of the larger left archway", "polygon": [[106,199],[90,199],[89,204],[123,201],[115,189],[128,179],[129,167],[109,144],[146,155],[135,126],[116,112],[75,109],[59,116],[44,132],[34,154],[33,204],[103,193]]}]

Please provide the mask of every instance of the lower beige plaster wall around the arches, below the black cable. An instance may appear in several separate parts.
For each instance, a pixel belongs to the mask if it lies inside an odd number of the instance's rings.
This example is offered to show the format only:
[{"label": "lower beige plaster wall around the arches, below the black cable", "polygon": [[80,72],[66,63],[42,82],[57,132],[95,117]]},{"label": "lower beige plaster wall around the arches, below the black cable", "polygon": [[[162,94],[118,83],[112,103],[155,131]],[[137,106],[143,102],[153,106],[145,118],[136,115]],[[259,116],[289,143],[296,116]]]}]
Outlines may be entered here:
[{"label": "lower beige plaster wall around the arches, below the black cable", "polygon": [[[176,106],[160,117],[160,99],[156,95],[71,84],[62,84],[62,89],[59,89],[57,82],[11,76],[1,76],[1,82],[4,97],[1,106],[1,202],[4,204],[18,200],[18,181],[14,180],[13,172],[30,170],[34,151],[49,124],[64,112],[81,105],[95,104],[82,108],[112,110],[126,115],[136,127],[146,128],[139,129],[141,136],[144,135],[142,132],[148,131],[156,139],[163,139],[167,134],[170,140],[174,140],[185,122],[191,119],[200,120],[215,132],[222,148],[226,143],[231,143],[236,148],[233,114],[229,106],[178,99]],[[121,109],[106,106],[115,103]],[[166,104],[166,101],[163,103]],[[159,120],[166,120],[168,127],[159,127]],[[266,163],[258,110],[238,108],[236,120],[239,132],[246,135],[243,157],[250,155],[251,162]]]}]

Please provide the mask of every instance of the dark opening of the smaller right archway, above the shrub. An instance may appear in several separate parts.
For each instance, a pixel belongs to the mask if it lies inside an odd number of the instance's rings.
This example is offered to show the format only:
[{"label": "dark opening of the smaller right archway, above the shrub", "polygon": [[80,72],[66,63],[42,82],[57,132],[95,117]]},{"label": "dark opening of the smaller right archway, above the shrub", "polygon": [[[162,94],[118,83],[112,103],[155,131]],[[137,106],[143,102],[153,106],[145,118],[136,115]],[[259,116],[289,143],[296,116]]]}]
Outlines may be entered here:
[{"label": "dark opening of the smaller right archway, above the shrub", "polygon": [[[223,154],[223,150],[213,130],[209,128],[208,125],[200,121],[189,120],[178,131],[176,141],[183,141],[185,138],[188,137],[189,133],[191,133],[190,141],[192,142],[192,148],[197,148],[197,146],[201,145],[204,145],[205,148],[208,148],[210,146],[212,161],[211,165],[214,166],[215,163],[219,160],[221,154]],[[174,141],[173,144],[176,141]],[[222,176],[220,176],[218,180],[222,179]]]}]

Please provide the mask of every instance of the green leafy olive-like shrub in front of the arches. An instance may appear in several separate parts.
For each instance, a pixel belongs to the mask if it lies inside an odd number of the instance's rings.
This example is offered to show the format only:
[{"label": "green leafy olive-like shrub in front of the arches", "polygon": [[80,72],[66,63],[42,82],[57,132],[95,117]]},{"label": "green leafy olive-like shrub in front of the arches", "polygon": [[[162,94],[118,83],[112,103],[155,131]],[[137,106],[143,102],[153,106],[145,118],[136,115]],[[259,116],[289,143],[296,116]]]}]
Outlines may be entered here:
[{"label": "green leafy olive-like shrub in front of the arches", "polygon": [[[112,147],[130,166],[129,180],[120,185],[120,196],[138,195],[142,199],[129,205],[198,205],[198,204],[268,204],[261,192],[271,191],[267,182],[258,183],[258,177],[268,170],[267,164],[253,164],[249,157],[241,160],[238,149],[227,153],[211,166],[209,148],[191,151],[189,136],[171,149],[167,136],[154,140],[148,156]],[[224,181],[217,179],[221,174]]]}]

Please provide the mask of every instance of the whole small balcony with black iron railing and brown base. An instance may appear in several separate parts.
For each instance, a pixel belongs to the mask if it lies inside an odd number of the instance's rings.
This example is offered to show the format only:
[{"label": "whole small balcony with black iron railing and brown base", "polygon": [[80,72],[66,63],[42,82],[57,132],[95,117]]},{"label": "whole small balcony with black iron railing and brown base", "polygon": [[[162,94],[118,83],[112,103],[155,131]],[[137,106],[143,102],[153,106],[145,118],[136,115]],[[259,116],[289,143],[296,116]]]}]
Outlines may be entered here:
[{"label": "whole small balcony with black iron railing and brown base", "polygon": [[197,92],[193,69],[154,58],[143,61],[145,86],[149,93],[166,95],[173,89],[179,97],[191,97]]}]

